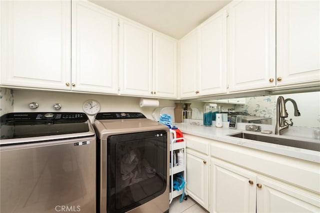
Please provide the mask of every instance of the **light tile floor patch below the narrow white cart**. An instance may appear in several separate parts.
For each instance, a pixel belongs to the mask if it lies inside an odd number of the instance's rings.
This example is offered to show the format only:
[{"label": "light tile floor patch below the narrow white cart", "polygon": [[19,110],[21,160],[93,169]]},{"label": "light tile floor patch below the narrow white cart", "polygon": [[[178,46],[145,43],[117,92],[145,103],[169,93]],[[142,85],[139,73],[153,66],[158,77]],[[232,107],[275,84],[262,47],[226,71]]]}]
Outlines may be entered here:
[{"label": "light tile floor patch below the narrow white cart", "polygon": [[186,201],[182,200],[181,203],[179,202],[180,196],[174,198],[170,204],[169,213],[208,213],[190,197],[187,198]]}]

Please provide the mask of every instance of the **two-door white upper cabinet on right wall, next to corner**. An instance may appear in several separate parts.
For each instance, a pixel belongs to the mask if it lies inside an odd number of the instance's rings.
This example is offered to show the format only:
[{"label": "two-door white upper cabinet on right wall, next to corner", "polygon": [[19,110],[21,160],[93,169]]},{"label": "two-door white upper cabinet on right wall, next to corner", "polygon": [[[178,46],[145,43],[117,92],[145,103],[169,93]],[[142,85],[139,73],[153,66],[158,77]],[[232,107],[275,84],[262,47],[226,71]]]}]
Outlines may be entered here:
[{"label": "two-door white upper cabinet on right wall, next to corner", "polygon": [[226,92],[226,10],[180,42],[181,98]]}]

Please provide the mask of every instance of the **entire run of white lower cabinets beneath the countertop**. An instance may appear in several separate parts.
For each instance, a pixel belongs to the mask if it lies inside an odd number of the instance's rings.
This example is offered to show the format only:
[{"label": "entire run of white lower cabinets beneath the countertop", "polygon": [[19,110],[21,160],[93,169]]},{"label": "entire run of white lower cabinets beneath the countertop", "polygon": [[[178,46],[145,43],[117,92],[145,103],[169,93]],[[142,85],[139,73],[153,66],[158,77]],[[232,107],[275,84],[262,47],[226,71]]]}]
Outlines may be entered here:
[{"label": "entire run of white lower cabinets beneath the countertop", "polygon": [[187,194],[210,213],[320,212],[318,163],[186,133],[183,138]]}]

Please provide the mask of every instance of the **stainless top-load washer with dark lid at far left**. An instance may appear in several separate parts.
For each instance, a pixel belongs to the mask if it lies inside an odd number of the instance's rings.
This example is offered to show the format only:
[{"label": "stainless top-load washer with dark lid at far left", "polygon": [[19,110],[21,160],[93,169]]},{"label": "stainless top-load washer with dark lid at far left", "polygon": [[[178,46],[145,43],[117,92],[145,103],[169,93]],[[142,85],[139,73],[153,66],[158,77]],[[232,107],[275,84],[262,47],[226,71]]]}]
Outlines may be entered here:
[{"label": "stainless top-load washer with dark lid at far left", "polygon": [[95,133],[84,113],[0,119],[1,213],[95,212]]}]

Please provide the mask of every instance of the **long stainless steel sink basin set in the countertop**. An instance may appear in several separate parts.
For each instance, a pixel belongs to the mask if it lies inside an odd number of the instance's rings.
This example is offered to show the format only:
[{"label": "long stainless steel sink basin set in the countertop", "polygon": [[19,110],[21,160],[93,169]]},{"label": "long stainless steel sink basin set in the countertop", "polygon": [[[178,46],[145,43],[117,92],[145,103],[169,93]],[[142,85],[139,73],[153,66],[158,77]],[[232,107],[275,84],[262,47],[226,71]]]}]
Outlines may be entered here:
[{"label": "long stainless steel sink basin set in the countertop", "polygon": [[307,141],[301,141],[301,140],[292,140],[292,139],[270,137],[270,136],[264,136],[264,135],[254,135],[249,133],[237,133],[229,136],[320,152],[320,142],[319,143],[307,142]]}]

